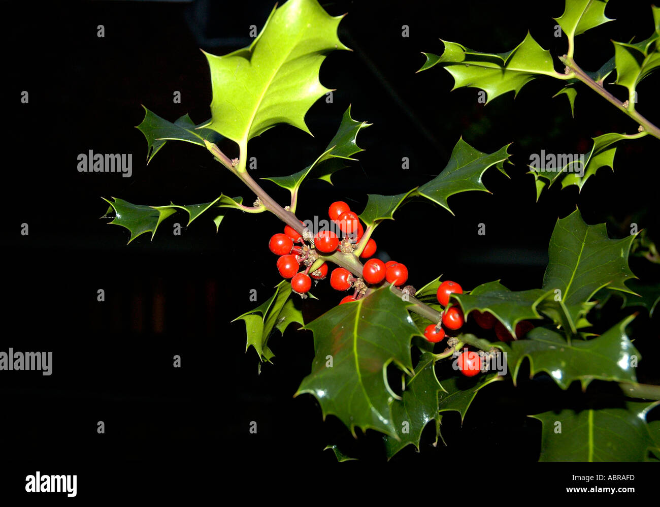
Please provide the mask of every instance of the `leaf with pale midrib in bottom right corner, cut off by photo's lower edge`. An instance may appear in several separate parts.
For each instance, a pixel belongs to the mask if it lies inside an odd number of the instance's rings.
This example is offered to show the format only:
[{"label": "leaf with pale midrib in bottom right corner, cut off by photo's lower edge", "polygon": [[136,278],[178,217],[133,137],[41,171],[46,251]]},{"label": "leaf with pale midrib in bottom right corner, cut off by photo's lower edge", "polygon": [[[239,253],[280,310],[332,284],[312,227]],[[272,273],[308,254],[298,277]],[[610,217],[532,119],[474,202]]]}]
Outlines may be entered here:
[{"label": "leaf with pale midrib in bottom right corner, cut off by photo's lower edge", "polygon": [[658,403],[531,415],[543,423],[539,461],[644,461],[657,446],[646,415]]}]

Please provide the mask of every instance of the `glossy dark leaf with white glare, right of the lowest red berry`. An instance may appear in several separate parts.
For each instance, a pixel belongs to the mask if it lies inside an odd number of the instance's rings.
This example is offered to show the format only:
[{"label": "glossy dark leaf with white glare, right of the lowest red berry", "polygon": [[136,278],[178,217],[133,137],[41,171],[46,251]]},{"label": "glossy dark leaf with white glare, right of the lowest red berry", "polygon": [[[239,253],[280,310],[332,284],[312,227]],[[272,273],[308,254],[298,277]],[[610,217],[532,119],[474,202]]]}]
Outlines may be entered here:
[{"label": "glossy dark leaf with white glare, right of the lowest red berry", "polygon": [[525,357],[529,358],[530,378],[546,372],[562,389],[579,380],[586,389],[594,380],[637,382],[636,362],[641,356],[626,335],[626,326],[634,316],[620,321],[603,335],[587,341],[566,339],[545,327],[535,327],[524,340],[498,344],[506,352],[513,384]]}]

